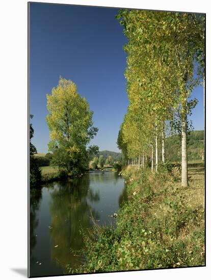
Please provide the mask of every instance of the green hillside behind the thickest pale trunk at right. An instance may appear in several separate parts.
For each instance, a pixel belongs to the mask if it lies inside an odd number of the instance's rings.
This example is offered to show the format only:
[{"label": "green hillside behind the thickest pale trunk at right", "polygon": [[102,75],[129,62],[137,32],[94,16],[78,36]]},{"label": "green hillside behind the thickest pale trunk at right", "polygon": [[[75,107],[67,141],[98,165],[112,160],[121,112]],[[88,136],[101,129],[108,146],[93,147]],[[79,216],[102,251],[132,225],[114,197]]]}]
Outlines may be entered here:
[{"label": "green hillside behind the thickest pale trunk at right", "polygon": [[[188,135],[188,160],[203,160],[204,130],[193,130]],[[181,139],[179,135],[166,138],[166,158],[170,161],[181,160]]]}]

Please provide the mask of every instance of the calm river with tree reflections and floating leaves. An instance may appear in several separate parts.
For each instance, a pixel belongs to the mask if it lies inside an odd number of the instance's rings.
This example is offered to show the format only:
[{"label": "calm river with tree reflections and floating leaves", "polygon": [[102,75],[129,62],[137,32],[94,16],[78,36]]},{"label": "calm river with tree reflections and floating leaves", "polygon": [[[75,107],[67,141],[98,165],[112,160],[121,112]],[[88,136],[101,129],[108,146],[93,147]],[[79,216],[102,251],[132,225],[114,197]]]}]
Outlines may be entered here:
[{"label": "calm river with tree reflections and floating leaves", "polygon": [[111,215],[126,200],[124,180],[113,172],[93,172],[33,191],[31,276],[63,274],[66,264],[82,264],[85,260],[77,253],[84,245],[80,228],[92,227],[90,213],[99,225],[111,220],[115,225]]}]

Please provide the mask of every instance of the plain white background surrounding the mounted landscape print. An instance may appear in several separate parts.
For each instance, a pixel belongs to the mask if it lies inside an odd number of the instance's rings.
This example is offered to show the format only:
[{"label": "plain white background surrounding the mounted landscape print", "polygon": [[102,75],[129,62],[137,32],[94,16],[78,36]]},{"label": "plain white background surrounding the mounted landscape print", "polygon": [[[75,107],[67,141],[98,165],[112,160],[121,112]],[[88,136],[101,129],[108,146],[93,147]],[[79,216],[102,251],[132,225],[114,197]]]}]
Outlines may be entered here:
[{"label": "plain white background surrounding the mounted landscape print", "polygon": [[[36,1],[35,1],[36,2]],[[78,0],[45,1],[76,5],[95,5],[206,13],[206,267],[153,271],[134,271],[75,276],[54,279],[207,279],[210,263],[210,17],[208,1],[135,1]],[[47,18],[46,18],[47,20]],[[20,279],[27,276],[27,1],[1,1],[0,4],[0,278]],[[37,81],[39,82],[39,81]],[[61,278],[62,277],[62,278]],[[51,279],[52,277],[48,277]]]}]

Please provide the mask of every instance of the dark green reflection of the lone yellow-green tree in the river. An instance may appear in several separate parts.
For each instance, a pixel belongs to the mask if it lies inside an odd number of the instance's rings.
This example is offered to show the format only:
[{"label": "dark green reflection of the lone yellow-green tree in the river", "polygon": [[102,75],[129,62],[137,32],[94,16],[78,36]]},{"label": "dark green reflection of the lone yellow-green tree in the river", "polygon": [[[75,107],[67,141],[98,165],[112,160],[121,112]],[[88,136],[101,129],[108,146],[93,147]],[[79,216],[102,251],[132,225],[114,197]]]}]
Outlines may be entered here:
[{"label": "dark green reflection of the lone yellow-green tree in the river", "polygon": [[[80,229],[91,226],[91,206],[86,198],[99,201],[99,193],[89,189],[89,185],[89,175],[85,175],[80,179],[58,183],[51,193],[51,259],[64,268],[68,263],[77,266],[82,262],[82,257],[75,256],[74,251],[83,247]],[[94,211],[94,216],[98,218],[99,214]]]}]

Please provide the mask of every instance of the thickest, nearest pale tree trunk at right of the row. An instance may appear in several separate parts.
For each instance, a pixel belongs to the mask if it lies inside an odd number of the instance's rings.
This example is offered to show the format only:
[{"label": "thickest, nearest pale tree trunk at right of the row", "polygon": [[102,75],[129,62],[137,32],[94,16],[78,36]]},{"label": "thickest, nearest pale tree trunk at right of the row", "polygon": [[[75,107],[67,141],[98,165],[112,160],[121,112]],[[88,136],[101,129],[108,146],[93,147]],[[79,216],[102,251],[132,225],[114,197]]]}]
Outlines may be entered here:
[{"label": "thickest, nearest pale tree trunk at right of the row", "polygon": [[187,115],[181,118],[181,186],[188,187]]}]

